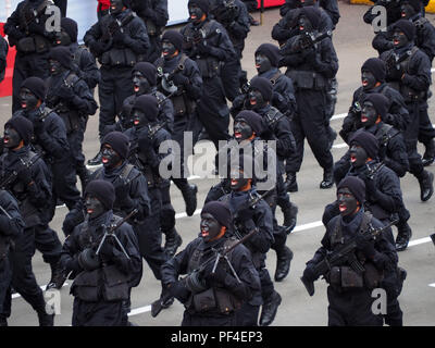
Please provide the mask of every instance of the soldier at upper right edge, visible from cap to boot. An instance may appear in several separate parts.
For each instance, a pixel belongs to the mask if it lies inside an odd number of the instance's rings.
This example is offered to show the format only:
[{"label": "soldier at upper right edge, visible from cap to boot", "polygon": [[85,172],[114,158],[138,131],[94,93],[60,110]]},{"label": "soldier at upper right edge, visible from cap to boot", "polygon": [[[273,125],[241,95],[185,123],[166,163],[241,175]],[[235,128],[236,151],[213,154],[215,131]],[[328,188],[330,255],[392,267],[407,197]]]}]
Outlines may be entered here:
[{"label": "soldier at upper right edge, visible from cap to boot", "polygon": [[[434,174],[424,170],[421,156],[417,151],[420,121],[428,120],[427,97],[432,82],[431,62],[414,44],[414,25],[407,20],[394,25],[395,48],[381,54],[386,62],[387,82],[403,97],[411,122],[405,132],[410,172],[419,179],[420,198],[427,201],[434,191]],[[435,137],[435,130],[434,135]]]}]

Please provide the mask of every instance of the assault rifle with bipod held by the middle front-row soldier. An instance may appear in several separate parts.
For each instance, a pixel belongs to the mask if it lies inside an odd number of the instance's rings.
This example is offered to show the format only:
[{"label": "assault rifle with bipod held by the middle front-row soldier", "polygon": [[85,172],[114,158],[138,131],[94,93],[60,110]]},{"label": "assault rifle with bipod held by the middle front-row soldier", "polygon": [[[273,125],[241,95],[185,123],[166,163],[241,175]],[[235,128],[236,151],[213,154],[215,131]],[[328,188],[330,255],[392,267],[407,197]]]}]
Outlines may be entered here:
[{"label": "assault rifle with bipod held by the middle front-row soldier", "polygon": [[[233,251],[238,245],[245,243],[248,240],[250,237],[252,237],[257,233],[257,229],[251,231],[249,234],[247,234],[245,237],[241,239],[237,240],[235,244],[233,244],[229,248],[222,248],[219,250],[213,250],[215,252],[214,256],[212,256],[210,259],[206,260],[201,265],[194,270],[189,275],[186,277],[182,278],[182,282],[185,282],[188,284],[189,287],[194,287],[197,289],[202,289],[206,290],[206,285],[199,279],[199,275],[207,269],[207,266],[211,263],[213,264],[212,273],[216,271],[219,261],[221,259],[224,259],[226,263],[228,264],[234,277],[237,279],[238,283],[241,283],[240,278],[237,276],[236,271],[234,270],[232,263],[229,262],[227,254]],[[164,303],[167,302],[172,298],[172,295],[167,294],[163,298],[160,298],[156,300],[154,302],[151,303],[151,316],[156,318],[159,315],[159,313],[162,311],[162,309],[165,307]]]}]

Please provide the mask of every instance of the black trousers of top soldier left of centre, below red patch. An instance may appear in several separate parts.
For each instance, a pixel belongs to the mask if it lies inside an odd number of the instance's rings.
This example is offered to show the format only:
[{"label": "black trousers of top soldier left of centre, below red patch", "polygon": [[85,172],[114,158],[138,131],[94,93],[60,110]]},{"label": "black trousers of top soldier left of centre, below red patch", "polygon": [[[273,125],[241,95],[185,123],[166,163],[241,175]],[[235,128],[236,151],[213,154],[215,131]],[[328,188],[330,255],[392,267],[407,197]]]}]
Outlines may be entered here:
[{"label": "black trousers of top soldier left of centre, below red patch", "polygon": [[100,140],[108,133],[107,126],[115,124],[115,116],[122,109],[124,100],[133,95],[133,67],[114,67],[102,65],[101,80],[98,85],[100,98]]}]

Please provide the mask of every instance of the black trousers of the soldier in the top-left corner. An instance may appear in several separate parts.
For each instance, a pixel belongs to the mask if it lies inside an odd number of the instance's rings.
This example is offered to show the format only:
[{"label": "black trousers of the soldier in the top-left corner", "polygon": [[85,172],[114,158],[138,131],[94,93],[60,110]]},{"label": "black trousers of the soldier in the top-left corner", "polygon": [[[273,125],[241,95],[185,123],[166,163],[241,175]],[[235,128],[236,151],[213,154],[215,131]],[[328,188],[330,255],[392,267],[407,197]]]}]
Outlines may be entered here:
[{"label": "black trousers of the soldier in the top-left corner", "polygon": [[49,76],[48,52],[16,53],[12,77],[12,113],[21,110],[20,88],[23,82],[32,76],[46,79]]}]

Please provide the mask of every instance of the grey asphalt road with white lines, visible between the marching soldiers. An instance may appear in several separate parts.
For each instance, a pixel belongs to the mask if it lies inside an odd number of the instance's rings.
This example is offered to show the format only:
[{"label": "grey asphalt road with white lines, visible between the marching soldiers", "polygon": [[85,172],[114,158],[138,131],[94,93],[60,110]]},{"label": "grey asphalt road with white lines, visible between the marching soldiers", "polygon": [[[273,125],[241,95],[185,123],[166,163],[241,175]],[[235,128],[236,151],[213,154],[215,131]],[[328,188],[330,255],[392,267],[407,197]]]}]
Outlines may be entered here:
[{"label": "grey asphalt road with white lines, visible between the marching soldiers", "polygon": [[[334,45],[339,59],[338,101],[336,116],[332,121],[335,130],[340,129],[343,113],[348,110],[351,96],[360,85],[361,64],[366,59],[377,55],[371,47],[373,30],[362,21],[362,15],[368,8],[365,5],[349,5],[341,1],[339,8],[341,18],[334,32]],[[254,16],[258,17],[259,15],[254,14]],[[434,15],[427,14],[427,17],[434,23]],[[246,40],[243,60],[243,66],[248,71],[249,77],[256,74],[254,50],[263,42],[275,44],[271,39],[271,30],[278,20],[278,10],[272,9],[265,12],[263,26],[251,27]],[[434,98],[432,98],[430,100],[430,115],[433,123],[435,123],[434,107]],[[0,99],[0,114],[2,126],[11,116],[11,98]],[[98,115],[95,115],[88,123],[85,136],[84,150],[87,159],[92,158],[99,149],[97,130]],[[346,152],[346,149],[343,140],[337,138],[333,149],[334,160],[338,160]],[[212,160],[213,157],[214,149],[210,141],[201,141],[196,146],[194,162],[202,163],[200,165],[202,172],[206,169],[206,172],[210,173],[210,167],[207,170],[204,159]],[[435,165],[430,166],[428,171],[435,173]],[[194,216],[186,217],[181,191],[174,186],[171,188],[173,206],[177,212],[176,228],[184,240],[182,248],[198,235],[199,212],[203,200],[211,185],[219,181],[217,178],[210,178],[210,175],[208,175],[209,178],[206,178],[203,173],[199,171],[194,171],[190,174],[192,175],[191,182],[197,184],[199,188],[198,210]],[[273,322],[273,325],[276,326],[327,325],[325,282],[316,282],[315,294],[310,297],[299,279],[304,263],[312,258],[314,251],[320,247],[320,240],[325,231],[321,224],[323,209],[335,199],[335,187],[326,190],[319,188],[322,174],[322,169],[316,163],[309,146],[306,146],[302,169],[298,174],[299,191],[291,195],[291,201],[299,207],[298,225],[287,239],[287,245],[293,249],[295,257],[289,275],[282,283],[275,283],[276,290],[283,297],[276,319]],[[399,253],[399,263],[408,271],[408,278],[399,297],[403,311],[403,324],[433,325],[435,322],[435,247],[427,237],[435,229],[435,197],[428,202],[421,202],[418,181],[410,174],[401,179],[401,188],[406,206],[411,212],[409,224],[413,231],[408,249]],[[58,231],[62,241],[64,236],[61,226],[65,213],[66,208],[58,208],[51,223],[51,227]],[[279,209],[277,209],[277,217],[282,221]],[[275,272],[275,252],[271,250],[268,253],[266,261],[271,276]],[[42,262],[38,251],[34,257],[33,265],[38,283],[45,286],[50,278],[50,269],[48,264]],[[55,325],[71,325],[73,297],[70,295],[70,285],[71,281],[67,281],[60,291],[61,313],[55,316]],[[171,308],[163,310],[156,319],[151,318],[150,304],[159,297],[160,290],[160,282],[153,277],[151,270],[145,262],[141,283],[132,293],[129,320],[133,323],[140,326],[179,325],[184,308],[177,301]],[[11,326],[35,326],[38,324],[36,313],[18,295],[14,296],[9,324]]]}]

